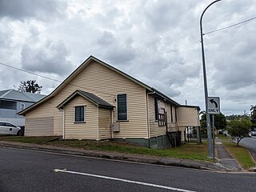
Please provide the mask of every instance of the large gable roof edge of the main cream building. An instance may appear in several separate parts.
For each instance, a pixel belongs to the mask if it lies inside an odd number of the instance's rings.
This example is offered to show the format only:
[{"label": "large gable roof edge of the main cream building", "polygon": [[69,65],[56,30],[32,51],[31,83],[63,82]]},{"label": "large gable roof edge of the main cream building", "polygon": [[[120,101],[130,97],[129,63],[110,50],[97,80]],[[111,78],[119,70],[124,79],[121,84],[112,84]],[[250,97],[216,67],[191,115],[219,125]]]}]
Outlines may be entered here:
[{"label": "large gable roof edge of the main cream building", "polygon": [[91,62],[98,62],[102,66],[106,66],[110,70],[114,70],[118,74],[121,74],[122,76],[124,76],[126,78],[129,78],[131,81],[133,81],[133,82],[137,83],[138,85],[144,87],[147,91],[149,91],[151,93],[154,93],[154,94],[158,95],[158,97],[161,97],[161,98],[165,99],[166,102],[170,102],[174,106],[180,106],[180,104],[178,104],[178,102],[175,102],[174,100],[172,100],[171,98],[169,98],[165,94],[162,94],[159,90],[155,89],[154,87],[147,86],[145,83],[138,81],[138,79],[131,77],[129,74],[126,74],[126,73],[122,72],[121,70],[118,70],[117,68],[114,68],[114,66],[110,66],[106,62],[102,62],[98,58],[95,58],[94,56],[90,55],[90,57],[87,58],[86,61],[82,62],[82,64],[80,66],[78,66],[78,68],[76,70],[74,70],[70,74],[70,76],[68,76],[51,94],[49,94],[46,98],[43,98],[39,102],[34,103],[34,105],[27,107],[25,110],[20,111],[18,114],[19,115],[26,114],[26,112],[34,109],[34,107],[40,105],[42,102],[45,102],[47,99],[54,97],[54,95],[58,94],[59,90],[61,90],[64,86],[66,86],[66,84],[68,84],[77,74],[79,74],[83,69],[85,69],[86,66],[90,65]]}]

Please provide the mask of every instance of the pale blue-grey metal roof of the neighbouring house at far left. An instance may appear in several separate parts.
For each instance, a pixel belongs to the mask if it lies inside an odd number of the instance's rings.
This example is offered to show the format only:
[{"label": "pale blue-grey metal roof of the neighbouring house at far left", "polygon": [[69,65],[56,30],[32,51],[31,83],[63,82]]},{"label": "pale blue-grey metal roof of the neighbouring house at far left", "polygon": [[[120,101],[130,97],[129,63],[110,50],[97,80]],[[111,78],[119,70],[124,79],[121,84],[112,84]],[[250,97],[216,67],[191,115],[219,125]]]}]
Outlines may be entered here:
[{"label": "pale blue-grey metal roof of the neighbouring house at far left", "polygon": [[0,99],[15,100],[22,102],[38,102],[40,99],[45,98],[44,94],[32,94],[18,90],[1,90]]}]

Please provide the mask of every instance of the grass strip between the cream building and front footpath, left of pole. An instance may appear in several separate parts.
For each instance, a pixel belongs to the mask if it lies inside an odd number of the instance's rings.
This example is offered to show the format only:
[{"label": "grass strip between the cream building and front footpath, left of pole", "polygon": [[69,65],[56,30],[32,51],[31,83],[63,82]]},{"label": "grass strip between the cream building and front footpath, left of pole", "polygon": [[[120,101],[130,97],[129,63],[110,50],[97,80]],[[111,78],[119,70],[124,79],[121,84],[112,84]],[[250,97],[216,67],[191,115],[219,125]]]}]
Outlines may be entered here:
[{"label": "grass strip between the cream building and front footpath, left of pole", "polygon": [[207,143],[203,142],[198,145],[189,142],[177,148],[168,149],[150,149],[142,146],[134,146],[126,142],[113,141],[87,141],[87,140],[56,140],[56,137],[0,137],[0,141],[9,142],[27,142],[35,144],[45,144],[51,146],[74,147],[85,150],[104,150],[113,151],[124,154],[146,154],[158,157],[196,159],[202,161],[210,161],[207,158]]}]

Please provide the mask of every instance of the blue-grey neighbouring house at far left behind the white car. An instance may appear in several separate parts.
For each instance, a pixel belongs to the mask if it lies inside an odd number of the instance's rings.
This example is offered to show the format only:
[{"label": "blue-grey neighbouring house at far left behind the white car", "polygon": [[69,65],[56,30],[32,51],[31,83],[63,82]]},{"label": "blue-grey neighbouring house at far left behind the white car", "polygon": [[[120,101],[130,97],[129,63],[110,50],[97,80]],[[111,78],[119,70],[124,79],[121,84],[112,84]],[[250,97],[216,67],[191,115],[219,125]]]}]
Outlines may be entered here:
[{"label": "blue-grey neighbouring house at far left behind the white car", "polygon": [[17,113],[46,97],[42,94],[31,94],[18,90],[0,91],[0,121],[12,122],[25,126],[25,118]]}]

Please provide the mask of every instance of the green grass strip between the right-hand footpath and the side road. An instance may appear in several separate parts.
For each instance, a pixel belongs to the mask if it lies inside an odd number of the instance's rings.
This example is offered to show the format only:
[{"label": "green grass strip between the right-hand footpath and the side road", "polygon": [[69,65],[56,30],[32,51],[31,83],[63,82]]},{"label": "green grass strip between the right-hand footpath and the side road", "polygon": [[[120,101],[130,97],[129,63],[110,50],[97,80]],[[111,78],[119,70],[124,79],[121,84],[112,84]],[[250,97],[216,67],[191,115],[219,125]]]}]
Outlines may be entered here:
[{"label": "green grass strip between the right-hand footpath and the side road", "polygon": [[242,168],[249,169],[250,167],[256,166],[254,158],[252,158],[249,150],[247,150],[245,147],[237,146],[237,144],[232,142],[230,138],[225,138],[223,136],[218,136],[218,138],[222,141],[222,144],[226,147],[226,150],[228,150],[230,154],[237,159]]}]

